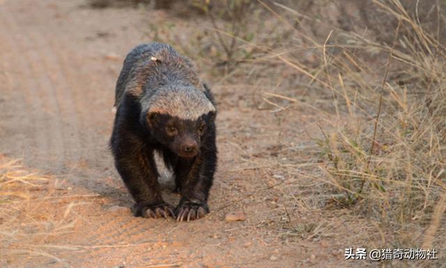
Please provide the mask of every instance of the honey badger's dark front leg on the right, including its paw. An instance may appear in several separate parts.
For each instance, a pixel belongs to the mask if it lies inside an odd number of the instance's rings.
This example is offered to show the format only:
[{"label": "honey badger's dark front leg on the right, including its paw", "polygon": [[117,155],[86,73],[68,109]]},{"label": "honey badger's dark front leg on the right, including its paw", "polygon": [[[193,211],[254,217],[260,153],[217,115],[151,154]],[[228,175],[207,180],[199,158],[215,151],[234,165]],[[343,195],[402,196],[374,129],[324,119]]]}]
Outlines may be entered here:
[{"label": "honey badger's dark front leg on the right, including its paw", "polygon": [[216,163],[215,136],[197,157],[178,159],[174,168],[181,194],[180,203],[175,209],[177,221],[199,219],[209,212],[208,196]]}]

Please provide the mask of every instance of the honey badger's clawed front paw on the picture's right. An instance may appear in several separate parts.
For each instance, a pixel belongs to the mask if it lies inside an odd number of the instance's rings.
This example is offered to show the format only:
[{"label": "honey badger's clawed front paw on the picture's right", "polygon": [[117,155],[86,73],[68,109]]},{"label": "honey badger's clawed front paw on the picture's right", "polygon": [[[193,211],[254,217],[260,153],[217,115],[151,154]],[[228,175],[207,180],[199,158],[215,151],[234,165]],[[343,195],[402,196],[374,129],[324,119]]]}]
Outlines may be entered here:
[{"label": "honey badger's clawed front paw on the picture's right", "polygon": [[198,199],[186,199],[180,201],[175,209],[176,221],[193,221],[194,219],[203,218],[209,213],[209,207],[206,201]]}]

